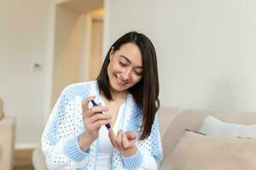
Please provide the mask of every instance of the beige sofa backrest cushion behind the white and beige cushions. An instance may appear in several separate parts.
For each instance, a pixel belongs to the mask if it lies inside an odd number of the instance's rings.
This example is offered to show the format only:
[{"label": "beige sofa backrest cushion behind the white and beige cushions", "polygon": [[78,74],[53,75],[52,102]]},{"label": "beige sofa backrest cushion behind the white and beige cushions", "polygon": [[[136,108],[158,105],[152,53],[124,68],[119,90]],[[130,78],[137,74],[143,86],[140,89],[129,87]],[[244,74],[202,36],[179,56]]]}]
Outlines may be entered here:
[{"label": "beige sofa backrest cushion behind the white and beige cushions", "polygon": [[215,116],[223,122],[256,124],[256,113],[207,110],[180,111],[172,123],[166,127],[166,133],[162,138],[163,148],[165,148],[164,155],[172,150],[186,129],[197,131],[201,127],[204,118],[208,115]]}]

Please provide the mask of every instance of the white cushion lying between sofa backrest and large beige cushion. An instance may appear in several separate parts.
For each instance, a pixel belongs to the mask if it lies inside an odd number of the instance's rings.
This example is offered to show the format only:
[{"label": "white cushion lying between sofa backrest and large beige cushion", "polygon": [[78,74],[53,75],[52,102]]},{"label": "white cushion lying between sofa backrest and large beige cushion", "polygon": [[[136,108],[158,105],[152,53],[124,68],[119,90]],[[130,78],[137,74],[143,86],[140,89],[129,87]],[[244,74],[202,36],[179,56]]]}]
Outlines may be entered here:
[{"label": "white cushion lying between sofa backrest and large beige cushion", "polygon": [[256,138],[256,125],[242,125],[230,122],[221,122],[213,116],[207,116],[204,119],[199,132],[211,136]]}]

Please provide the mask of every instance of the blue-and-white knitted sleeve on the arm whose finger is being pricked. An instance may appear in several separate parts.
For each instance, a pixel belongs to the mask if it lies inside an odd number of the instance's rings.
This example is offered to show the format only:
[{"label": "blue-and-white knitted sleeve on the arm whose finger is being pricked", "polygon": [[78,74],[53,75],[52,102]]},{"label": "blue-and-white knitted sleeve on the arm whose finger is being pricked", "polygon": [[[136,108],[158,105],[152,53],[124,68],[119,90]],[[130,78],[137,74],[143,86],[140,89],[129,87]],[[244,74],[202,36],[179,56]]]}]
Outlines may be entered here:
[{"label": "blue-and-white knitted sleeve on the arm whose finger is being pricked", "polygon": [[160,169],[163,161],[163,150],[160,141],[160,129],[157,115],[155,115],[154,124],[148,139],[138,140],[136,144],[137,154],[135,156],[122,156],[125,169]]}]

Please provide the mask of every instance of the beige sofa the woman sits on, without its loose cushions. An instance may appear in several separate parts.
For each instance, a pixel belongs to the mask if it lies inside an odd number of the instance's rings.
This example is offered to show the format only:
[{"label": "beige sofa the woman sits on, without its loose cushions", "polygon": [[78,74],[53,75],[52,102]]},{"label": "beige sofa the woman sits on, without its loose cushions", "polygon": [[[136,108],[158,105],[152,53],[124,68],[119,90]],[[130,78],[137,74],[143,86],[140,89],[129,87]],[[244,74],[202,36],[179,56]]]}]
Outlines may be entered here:
[{"label": "beige sofa the woman sits on, without its loose cushions", "polygon": [[[180,110],[177,108],[160,108],[160,133],[164,149],[165,160],[163,170],[170,170],[166,161],[179,139],[183,136],[185,129],[198,130],[207,115],[215,116],[224,122],[243,124],[256,123],[255,113],[204,111],[204,110]],[[44,156],[39,148],[34,150],[33,165],[36,170],[47,169],[44,163]],[[173,169],[173,168],[172,168]],[[246,168],[245,168],[246,169]],[[177,170],[177,169],[173,169]],[[208,169],[206,169],[208,170]],[[216,169],[218,170],[218,169]]]}]

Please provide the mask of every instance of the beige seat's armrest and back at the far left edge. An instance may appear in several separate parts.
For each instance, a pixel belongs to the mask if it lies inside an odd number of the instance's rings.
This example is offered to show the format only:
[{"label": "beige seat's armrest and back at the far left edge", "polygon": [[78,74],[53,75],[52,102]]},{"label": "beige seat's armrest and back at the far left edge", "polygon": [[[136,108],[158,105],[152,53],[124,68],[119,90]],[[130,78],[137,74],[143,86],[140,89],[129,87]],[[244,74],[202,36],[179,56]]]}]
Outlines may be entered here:
[{"label": "beige seat's armrest and back at the far left edge", "polygon": [[3,100],[0,99],[0,169],[14,167],[15,118],[3,114]]}]

